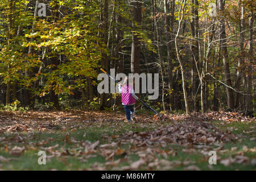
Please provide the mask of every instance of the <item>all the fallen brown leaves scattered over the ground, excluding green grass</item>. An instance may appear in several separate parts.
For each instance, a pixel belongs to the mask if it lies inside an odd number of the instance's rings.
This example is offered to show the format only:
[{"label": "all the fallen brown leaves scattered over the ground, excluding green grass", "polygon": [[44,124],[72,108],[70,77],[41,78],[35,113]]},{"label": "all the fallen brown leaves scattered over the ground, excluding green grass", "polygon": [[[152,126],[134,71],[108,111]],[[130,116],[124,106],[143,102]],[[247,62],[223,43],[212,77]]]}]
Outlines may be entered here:
[{"label": "all the fallen brown leaves scattered over the ground, excluding green grass", "polygon": [[[255,121],[255,118],[243,117],[238,113],[210,112],[189,115],[165,114],[164,118],[159,120],[154,119],[151,115],[141,114],[137,115],[137,123],[124,123],[125,120],[124,113],[97,111],[1,113],[0,150],[9,152],[15,157],[23,155],[28,150],[46,151],[47,162],[51,158],[65,162],[65,159],[74,157],[81,163],[86,163],[90,158],[96,158],[98,155],[106,160],[104,163],[95,162],[84,169],[165,170],[182,167],[185,170],[199,170],[195,161],[188,158],[170,161],[170,155],[175,157],[181,148],[186,154],[203,154],[200,161],[208,162],[209,151],[214,150],[218,151],[218,154],[226,154],[230,150],[223,150],[223,143],[237,140],[239,136],[231,134],[230,131],[218,129],[212,125],[211,121],[221,121],[220,123],[225,125],[236,121],[249,123]],[[97,141],[88,140],[86,130],[83,130],[93,127],[102,127],[102,130],[99,130],[101,139]],[[133,131],[130,131],[132,129]],[[138,129],[143,129],[143,131]],[[82,137],[72,134],[77,130]],[[243,131],[243,133],[253,135],[254,127],[251,127],[250,130]],[[40,135],[36,135],[36,131],[62,133],[63,135],[61,138],[42,139]],[[251,137],[253,137],[251,140],[254,141],[255,136]],[[55,142],[55,145],[49,146],[51,142]],[[17,143],[20,145],[16,146]],[[177,144],[179,149],[175,148],[176,145],[170,144]],[[255,147],[243,146],[242,152],[238,151],[238,147],[233,147],[231,150],[233,155],[225,159],[218,156],[218,163],[220,162],[224,166],[242,163],[255,165],[254,159],[251,160],[244,155],[246,151],[255,152]],[[134,161],[131,159],[131,155],[137,155],[139,159]],[[18,159],[0,156],[0,163],[9,163],[10,160]]]}]

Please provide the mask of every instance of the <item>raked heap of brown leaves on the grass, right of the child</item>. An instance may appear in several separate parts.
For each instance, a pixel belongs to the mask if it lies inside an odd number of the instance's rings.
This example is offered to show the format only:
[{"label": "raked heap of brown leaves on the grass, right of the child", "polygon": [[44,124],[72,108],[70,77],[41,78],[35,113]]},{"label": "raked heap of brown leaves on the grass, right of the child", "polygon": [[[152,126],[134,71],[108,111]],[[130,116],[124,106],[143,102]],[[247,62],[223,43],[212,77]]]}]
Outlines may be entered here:
[{"label": "raked heap of brown leaves on the grass, right of the child", "polygon": [[207,122],[183,122],[162,126],[152,131],[129,132],[121,137],[122,143],[136,146],[166,146],[175,144],[213,144],[229,142],[237,137],[229,131],[221,131]]}]

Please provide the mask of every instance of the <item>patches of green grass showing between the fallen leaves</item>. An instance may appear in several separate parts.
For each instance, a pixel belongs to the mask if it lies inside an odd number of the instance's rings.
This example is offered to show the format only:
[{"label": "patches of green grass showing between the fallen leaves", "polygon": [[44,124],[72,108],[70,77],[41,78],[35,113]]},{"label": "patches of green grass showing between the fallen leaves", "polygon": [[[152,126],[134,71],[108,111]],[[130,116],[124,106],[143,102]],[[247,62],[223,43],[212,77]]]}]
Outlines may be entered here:
[{"label": "patches of green grass showing between the fallen leaves", "polygon": [[[236,142],[229,142],[225,143],[222,150],[227,150],[223,154],[217,152],[218,157],[220,157],[220,160],[229,158],[230,156],[236,155],[239,152],[243,152],[243,155],[247,156],[251,159],[256,158],[255,154],[255,147],[256,142],[253,140],[250,140],[251,138],[255,137],[255,122],[251,123],[242,123],[242,122],[233,122],[233,123],[225,123],[220,121],[209,121],[212,122],[214,125],[219,127],[222,130],[229,130],[231,127],[233,127],[232,133],[234,134],[242,134],[242,137],[239,141]],[[168,123],[170,124],[170,123]],[[158,126],[165,125],[165,123],[159,123]],[[78,126],[83,127],[83,124],[80,123]],[[78,127],[77,126],[77,127]],[[38,151],[42,150],[42,147],[51,147],[55,146],[56,144],[59,144],[59,146],[55,149],[59,152],[65,152],[69,151],[70,154],[76,154],[78,151],[83,151],[84,148],[81,147],[81,143],[70,143],[65,142],[65,134],[69,133],[69,140],[75,139],[79,142],[91,142],[94,143],[97,140],[100,141],[100,144],[109,143],[108,139],[102,138],[102,134],[112,137],[113,141],[116,141],[115,137],[119,137],[118,135],[127,133],[129,131],[137,132],[137,131],[147,131],[152,130],[154,127],[158,127],[155,125],[145,125],[142,123],[102,123],[101,125],[98,125],[98,123],[93,123],[90,126],[83,127],[82,129],[77,129],[76,131],[68,130],[65,132],[61,132],[60,129],[56,128],[56,130],[51,131],[51,133],[47,132],[36,132],[34,135],[30,136],[27,133],[4,133],[0,134],[0,137],[5,137],[6,139],[2,142],[0,142],[0,156],[3,156],[6,159],[10,159],[9,162],[1,162],[0,160],[0,169],[4,170],[51,170],[51,169],[57,169],[57,170],[77,170],[77,169],[93,169],[93,166],[102,166],[104,167],[104,163],[108,162],[104,157],[102,157],[100,154],[96,152],[96,154],[92,154],[94,156],[91,156],[89,158],[86,158],[86,155],[61,155],[59,157],[55,156],[51,158],[50,160],[47,160],[46,165],[39,165],[38,164],[38,158],[39,156]],[[252,128],[254,127],[254,129]],[[253,133],[246,134],[243,131],[251,131],[254,130]],[[84,135],[86,133],[86,136]],[[20,136],[23,138],[23,140],[18,141],[15,138],[17,136]],[[30,137],[29,137],[30,136]],[[43,142],[40,144],[40,142]],[[111,142],[110,142],[111,143]],[[7,147],[8,146],[8,147]],[[26,147],[26,151],[24,151],[21,155],[15,156],[10,154],[11,148],[14,146],[19,147]],[[243,146],[247,146],[249,149],[254,148],[254,151],[243,151]],[[121,144],[119,148],[122,148],[126,151],[129,150],[130,144]],[[176,155],[173,156],[172,154],[168,155],[167,158],[164,158],[163,155],[155,154],[155,159],[166,159],[169,161],[178,160],[180,162],[184,162],[185,160],[190,160],[191,163],[184,165],[181,164],[180,166],[176,166],[172,169],[174,170],[183,170],[184,167],[195,165],[199,167],[201,170],[253,170],[256,169],[256,166],[250,163],[245,164],[230,164],[229,166],[224,166],[220,163],[220,160],[217,161],[217,165],[210,166],[208,164],[209,156],[205,156],[200,153],[199,150],[192,154],[187,154],[183,152],[182,150],[185,148],[183,146],[170,144],[166,147],[162,147],[162,150],[172,148],[174,151],[176,151]],[[232,147],[237,147],[236,150],[232,151]],[[8,148],[8,150],[6,149]],[[48,154],[47,154],[48,155]],[[49,154],[50,155],[50,154]],[[84,157],[84,159],[81,159],[81,157]],[[139,156],[136,154],[129,154],[129,155],[115,155],[114,160],[123,159],[126,158],[127,160],[123,160],[123,162],[119,163],[118,166],[114,167],[108,167],[106,169],[121,169],[123,166],[129,165],[130,161],[137,161],[139,160]],[[139,169],[148,169],[147,165],[142,166]],[[160,166],[159,168],[153,167],[152,169],[162,169]]]}]

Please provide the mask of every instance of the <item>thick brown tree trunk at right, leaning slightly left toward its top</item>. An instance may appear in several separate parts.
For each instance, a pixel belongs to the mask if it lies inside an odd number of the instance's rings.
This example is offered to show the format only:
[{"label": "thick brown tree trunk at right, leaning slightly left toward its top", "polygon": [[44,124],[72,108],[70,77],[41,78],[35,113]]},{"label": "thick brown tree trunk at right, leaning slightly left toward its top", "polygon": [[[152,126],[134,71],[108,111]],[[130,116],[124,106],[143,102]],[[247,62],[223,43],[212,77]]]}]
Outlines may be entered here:
[{"label": "thick brown tree trunk at right, leaning slightly left toward its top", "polygon": [[[224,0],[218,0],[219,7],[221,13],[224,13],[224,7],[225,7],[225,1]],[[220,20],[221,28],[220,28],[220,43],[221,43],[221,54],[223,59],[223,65],[224,65],[224,75],[225,75],[225,82],[226,85],[232,86],[230,71],[229,71],[229,61],[228,61],[228,48],[226,44],[226,30],[225,30],[225,19],[222,18]],[[234,96],[233,96],[233,90],[230,89],[228,86],[226,86],[226,93],[227,93],[227,103],[229,109],[234,108]]]}]

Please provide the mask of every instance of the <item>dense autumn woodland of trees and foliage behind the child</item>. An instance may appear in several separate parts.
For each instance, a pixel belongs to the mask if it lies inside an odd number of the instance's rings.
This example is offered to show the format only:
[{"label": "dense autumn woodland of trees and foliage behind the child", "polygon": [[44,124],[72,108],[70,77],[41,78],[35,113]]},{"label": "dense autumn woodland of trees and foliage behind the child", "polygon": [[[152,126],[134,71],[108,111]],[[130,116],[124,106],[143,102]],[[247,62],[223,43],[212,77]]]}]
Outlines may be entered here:
[{"label": "dense autumn woodland of trees and foliage behind the child", "polygon": [[148,103],[162,111],[254,110],[255,9],[249,0],[0,0],[0,104],[117,109],[118,94],[97,92],[100,68],[115,68],[159,73]]}]

